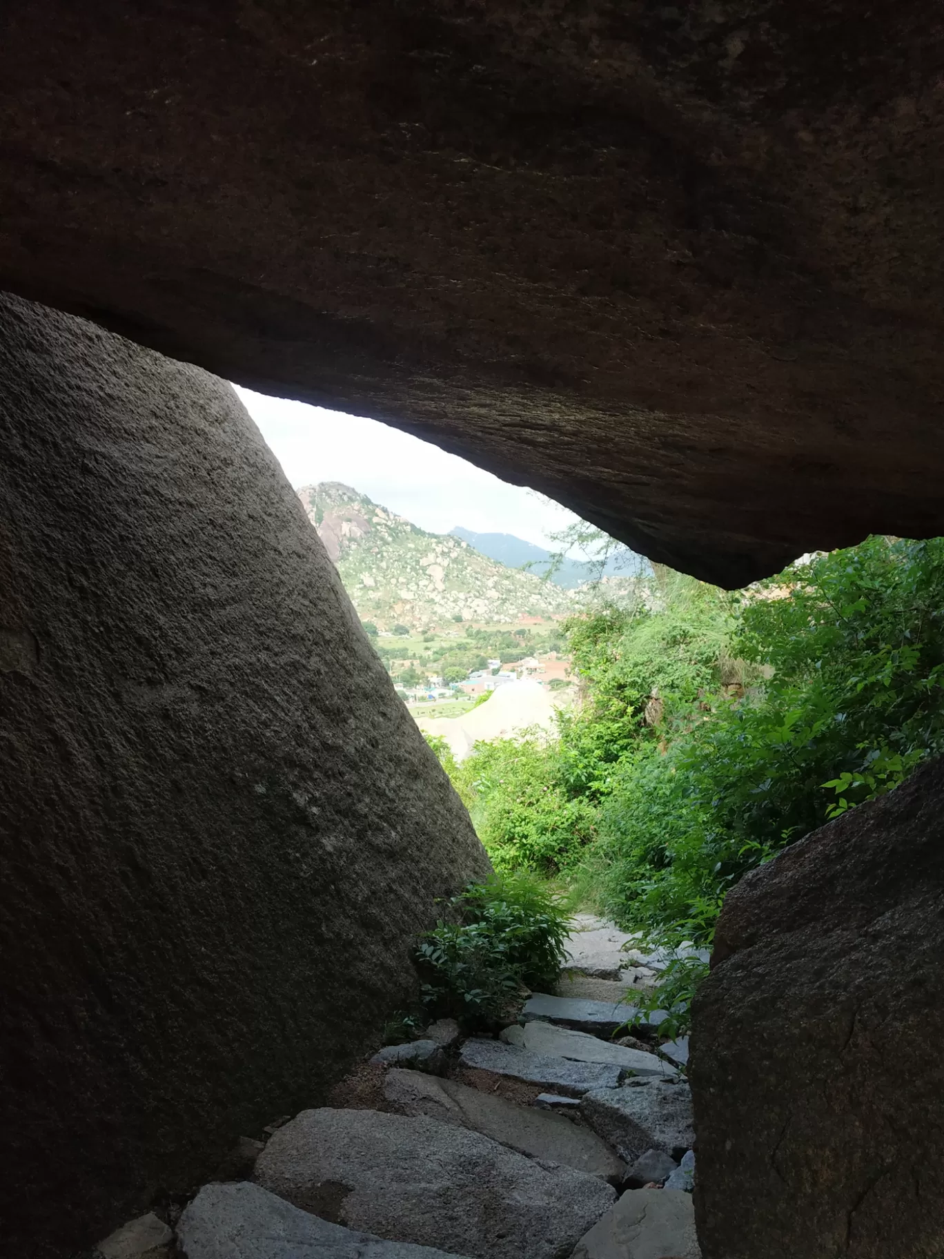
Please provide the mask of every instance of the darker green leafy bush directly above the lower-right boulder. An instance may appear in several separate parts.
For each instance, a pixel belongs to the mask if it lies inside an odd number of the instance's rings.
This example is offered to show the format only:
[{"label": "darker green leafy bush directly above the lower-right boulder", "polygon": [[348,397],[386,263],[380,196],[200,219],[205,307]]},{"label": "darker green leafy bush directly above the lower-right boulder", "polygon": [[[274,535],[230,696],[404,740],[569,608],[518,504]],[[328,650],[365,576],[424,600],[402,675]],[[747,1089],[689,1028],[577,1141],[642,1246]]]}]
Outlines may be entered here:
[{"label": "darker green leafy bush directly above the lower-right boulder", "polygon": [[769,676],[621,760],[582,876],[663,943],[710,943],[748,870],[944,750],[944,543],[795,564],[741,597],[728,650]]}]

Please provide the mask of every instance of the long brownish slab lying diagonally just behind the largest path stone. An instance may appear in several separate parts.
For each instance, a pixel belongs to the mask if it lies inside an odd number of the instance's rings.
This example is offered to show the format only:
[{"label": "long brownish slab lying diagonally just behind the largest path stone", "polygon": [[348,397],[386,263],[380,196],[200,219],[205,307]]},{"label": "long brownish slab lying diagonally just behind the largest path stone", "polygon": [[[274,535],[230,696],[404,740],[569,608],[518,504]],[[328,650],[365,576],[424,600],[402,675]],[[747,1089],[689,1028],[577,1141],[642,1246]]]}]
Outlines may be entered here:
[{"label": "long brownish slab lying diagonally just behind the largest path stone", "polygon": [[[605,1141],[563,1115],[419,1071],[389,1071],[384,1097],[399,1114],[424,1114],[441,1123],[471,1128],[521,1155],[564,1163],[590,1176],[602,1176],[613,1185],[622,1183],[626,1177],[626,1165]],[[569,1100],[579,1105],[575,1099]]]}]

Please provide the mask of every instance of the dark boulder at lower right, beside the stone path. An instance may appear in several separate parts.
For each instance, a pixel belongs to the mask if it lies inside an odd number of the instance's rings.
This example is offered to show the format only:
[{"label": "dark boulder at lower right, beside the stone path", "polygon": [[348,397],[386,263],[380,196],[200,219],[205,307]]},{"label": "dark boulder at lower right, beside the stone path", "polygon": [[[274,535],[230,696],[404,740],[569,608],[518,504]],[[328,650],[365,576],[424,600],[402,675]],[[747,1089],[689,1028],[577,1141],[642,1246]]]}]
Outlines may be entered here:
[{"label": "dark boulder at lower right, beside the stone path", "polygon": [[941,798],[938,760],[725,904],[690,1068],[709,1259],[941,1254]]}]

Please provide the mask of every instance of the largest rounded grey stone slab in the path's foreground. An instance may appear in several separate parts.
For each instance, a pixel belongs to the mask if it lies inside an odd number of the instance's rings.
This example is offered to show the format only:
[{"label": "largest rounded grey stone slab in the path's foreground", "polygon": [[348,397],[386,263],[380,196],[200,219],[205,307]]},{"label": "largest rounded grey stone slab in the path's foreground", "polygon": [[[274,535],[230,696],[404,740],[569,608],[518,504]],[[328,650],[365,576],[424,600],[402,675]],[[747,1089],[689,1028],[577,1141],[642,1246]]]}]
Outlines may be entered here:
[{"label": "largest rounded grey stone slab in the path's foreground", "polygon": [[302,1112],[256,1180],[337,1224],[472,1259],[560,1259],[615,1199],[597,1176],[376,1110]]}]

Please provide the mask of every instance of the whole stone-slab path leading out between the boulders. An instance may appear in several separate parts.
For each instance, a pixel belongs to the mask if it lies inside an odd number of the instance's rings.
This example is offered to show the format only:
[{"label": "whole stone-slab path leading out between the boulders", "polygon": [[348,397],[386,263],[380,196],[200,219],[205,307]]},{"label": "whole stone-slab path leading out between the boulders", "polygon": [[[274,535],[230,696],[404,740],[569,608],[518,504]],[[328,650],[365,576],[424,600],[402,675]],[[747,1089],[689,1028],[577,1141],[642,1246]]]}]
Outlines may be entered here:
[{"label": "whole stone-slab path leading out between the boulders", "polygon": [[[667,958],[589,915],[556,990],[500,1036],[439,1020],[331,1107],[242,1138],[103,1259],[697,1259],[687,1042],[627,1020]],[[624,1000],[626,998],[626,1000]]]}]

